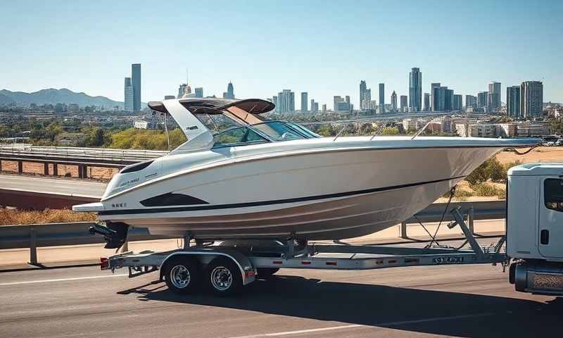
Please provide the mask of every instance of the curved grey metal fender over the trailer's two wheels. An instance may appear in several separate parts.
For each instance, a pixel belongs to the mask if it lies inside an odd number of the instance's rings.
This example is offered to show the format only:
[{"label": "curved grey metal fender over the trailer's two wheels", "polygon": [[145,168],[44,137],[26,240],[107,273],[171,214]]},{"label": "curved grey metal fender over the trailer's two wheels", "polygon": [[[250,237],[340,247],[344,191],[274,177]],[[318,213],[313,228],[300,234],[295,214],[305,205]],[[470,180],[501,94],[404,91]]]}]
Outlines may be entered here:
[{"label": "curved grey metal fender over the trailer's two wheels", "polygon": [[251,261],[248,257],[244,256],[239,251],[234,250],[222,250],[222,251],[210,251],[210,250],[189,250],[189,251],[176,251],[174,253],[170,253],[164,260],[163,263],[160,263],[158,267],[160,269],[160,280],[164,279],[163,269],[166,263],[172,257],[177,257],[180,255],[191,256],[196,258],[200,263],[207,264],[213,260],[213,258],[217,256],[227,257],[230,260],[234,261],[234,263],[239,267],[241,271],[243,285],[250,284],[254,282],[256,279],[256,268],[252,265]]}]

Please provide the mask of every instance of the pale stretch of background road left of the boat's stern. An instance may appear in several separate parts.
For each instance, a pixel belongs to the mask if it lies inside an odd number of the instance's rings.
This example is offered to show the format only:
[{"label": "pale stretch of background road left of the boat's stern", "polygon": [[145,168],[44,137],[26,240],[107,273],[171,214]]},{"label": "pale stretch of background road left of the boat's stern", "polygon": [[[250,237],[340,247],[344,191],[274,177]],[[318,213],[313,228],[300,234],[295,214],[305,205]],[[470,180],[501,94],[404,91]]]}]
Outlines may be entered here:
[{"label": "pale stretch of background road left of the boat's stern", "polygon": [[106,189],[106,183],[27,175],[0,175],[0,189],[100,198]]}]

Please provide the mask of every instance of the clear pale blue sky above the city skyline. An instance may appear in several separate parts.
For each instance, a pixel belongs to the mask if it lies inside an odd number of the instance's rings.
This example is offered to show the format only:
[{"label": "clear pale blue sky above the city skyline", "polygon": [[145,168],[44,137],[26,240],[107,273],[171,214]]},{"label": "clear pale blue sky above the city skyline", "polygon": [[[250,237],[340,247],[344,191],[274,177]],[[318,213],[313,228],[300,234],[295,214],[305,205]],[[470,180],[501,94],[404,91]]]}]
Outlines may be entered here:
[{"label": "clear pale blue sky above the city skyline", "polygon": [[68,88],[123,101],[123,77],[142,64],[142,100],[190,84],[220,96],[309,92],[332,106],[366,80],[408,92],[456,94],[543,80],[563,101],[563,1],[6,1],[0,20],[0,89]]}]

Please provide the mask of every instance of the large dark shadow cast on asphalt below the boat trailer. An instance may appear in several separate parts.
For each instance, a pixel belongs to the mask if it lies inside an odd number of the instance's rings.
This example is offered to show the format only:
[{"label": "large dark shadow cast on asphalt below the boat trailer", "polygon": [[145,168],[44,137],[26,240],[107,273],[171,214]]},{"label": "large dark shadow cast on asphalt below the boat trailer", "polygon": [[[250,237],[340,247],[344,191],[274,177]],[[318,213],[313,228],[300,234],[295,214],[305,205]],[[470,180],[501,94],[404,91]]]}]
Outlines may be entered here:
[{"label": "large dark shadow cast on asphalt below the boat trailer", "polygon": [[[502,296],[320,282],[283,275],[253,282],[243,294],[232,298],[217,298],[211,294],[179,296],[162,284],[152,283],[119,293],[139,294],[142,301],[218,306],[458,337],[491,334],[538,337],[548,333],[558,336],[563,327],[563,299],[540,303]],[[398,323],[454,316],[460,318]]]}]

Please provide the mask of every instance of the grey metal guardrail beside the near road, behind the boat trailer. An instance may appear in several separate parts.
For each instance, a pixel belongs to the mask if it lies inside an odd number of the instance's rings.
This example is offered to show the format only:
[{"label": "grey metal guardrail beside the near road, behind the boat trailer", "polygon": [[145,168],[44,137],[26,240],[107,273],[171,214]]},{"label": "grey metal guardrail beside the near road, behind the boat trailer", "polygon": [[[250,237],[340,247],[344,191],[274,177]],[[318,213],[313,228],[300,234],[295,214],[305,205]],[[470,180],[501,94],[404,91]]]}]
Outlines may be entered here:
[{"label": "grey metal guardrail beside the near road, behind the boat trailer", "polygon": [[[432,204],[420,213],[417,218],[421,222],[438,222],[445,210],[445,203]],[[450,204],[449,209],[461,207],[460,212],[466,215],[469,229],[473,232],[473,220],[505,218],[505,201],[477,201]],[[453,215],[446,211],[444,221],[454,220]],[[418,223],[413,217],[401,224],[401,237],[407,238],[407,224]],[[0,249],[30,248],[30,263],[37,265],[37,247],[103,243],[103,237],[89,234],[91,222],[52,223],[35,225],[0,226]],[[128,241],[151,239],[169,239],[175,237],[156,236],[144,228],[129,230]]]}]

